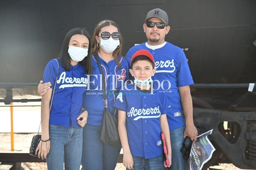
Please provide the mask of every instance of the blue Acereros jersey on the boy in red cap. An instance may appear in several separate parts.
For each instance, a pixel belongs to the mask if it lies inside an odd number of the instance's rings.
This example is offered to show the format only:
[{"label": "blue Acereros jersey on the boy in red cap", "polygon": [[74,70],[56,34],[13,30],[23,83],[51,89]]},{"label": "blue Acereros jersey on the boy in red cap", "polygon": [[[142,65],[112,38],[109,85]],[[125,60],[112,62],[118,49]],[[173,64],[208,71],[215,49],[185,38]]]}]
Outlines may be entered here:
[{"label": "blue Acereros jersey on the boy in red cap", "polygon": [[172,112],[172,107],[164,92],[144,93],[135,86],[128,84],[120,90],[114,107],[126,112],[125,126],[132,155],[155,158],[163,152],[160,116]]}]

